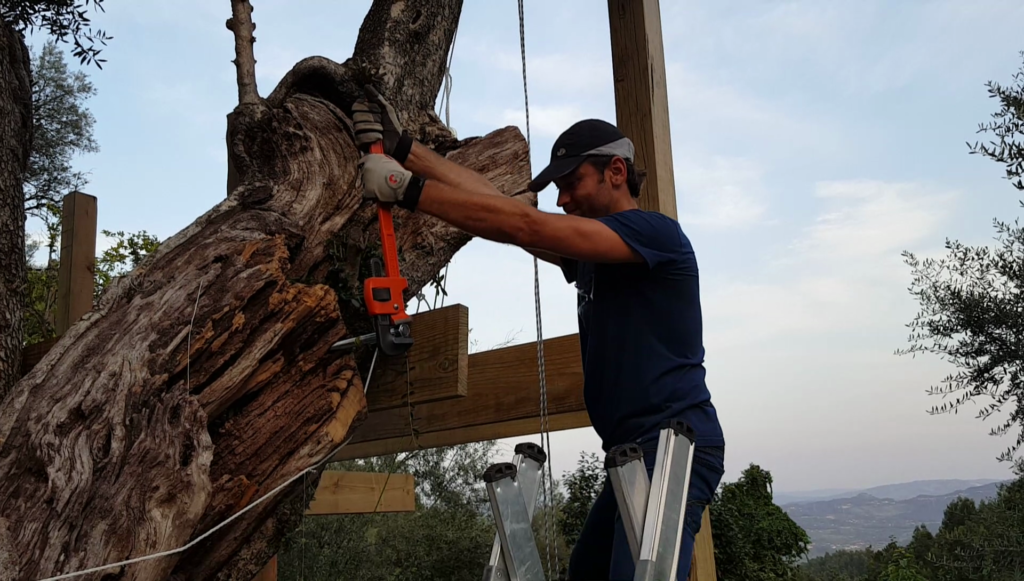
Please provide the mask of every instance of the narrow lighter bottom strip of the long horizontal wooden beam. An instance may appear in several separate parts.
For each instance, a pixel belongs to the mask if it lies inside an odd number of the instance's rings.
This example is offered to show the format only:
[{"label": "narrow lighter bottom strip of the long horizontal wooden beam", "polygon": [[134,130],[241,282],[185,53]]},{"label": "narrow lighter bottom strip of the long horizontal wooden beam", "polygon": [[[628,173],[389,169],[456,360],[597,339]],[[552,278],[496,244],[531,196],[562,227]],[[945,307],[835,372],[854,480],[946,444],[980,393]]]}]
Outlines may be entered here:
[{"label": "narrow lighter bottom strip of the long horizontal wooden beam", "polygon": [[[587,415],[586,411],[555,414],[548,416],[548,425],[551,431],[590,427],[590,416]],[[349,444],[342,448],[333,460],[337,462],[355,458],[373,458],[385,454],[397,454],[444,446],[459,446],[461,444],[483,442],[485,440],[520,438],[534,433],[539,434],[540,431],[540,418],[509,420],[471,427],[431,431],[415,439],[412,435],[404,435],[400,438],[372,440],[360,444]]]}]

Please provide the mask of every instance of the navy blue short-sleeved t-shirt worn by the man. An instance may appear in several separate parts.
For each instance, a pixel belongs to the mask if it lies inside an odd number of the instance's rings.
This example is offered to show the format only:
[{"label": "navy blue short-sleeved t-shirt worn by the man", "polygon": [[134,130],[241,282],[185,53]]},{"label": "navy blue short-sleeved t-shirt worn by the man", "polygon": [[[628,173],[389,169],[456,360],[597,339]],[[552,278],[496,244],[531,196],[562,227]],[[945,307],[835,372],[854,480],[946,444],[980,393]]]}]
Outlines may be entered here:
[{"label": "navy blue short-sleeved t-shirt worn by the man", "polygon": [[679,222],[628,210],[599,218],[633,247],[639,263],[562,259],[579,293],[584,399],[604,450],[655,435],[666,419],[724,446],[705,383],[697,262]]}]

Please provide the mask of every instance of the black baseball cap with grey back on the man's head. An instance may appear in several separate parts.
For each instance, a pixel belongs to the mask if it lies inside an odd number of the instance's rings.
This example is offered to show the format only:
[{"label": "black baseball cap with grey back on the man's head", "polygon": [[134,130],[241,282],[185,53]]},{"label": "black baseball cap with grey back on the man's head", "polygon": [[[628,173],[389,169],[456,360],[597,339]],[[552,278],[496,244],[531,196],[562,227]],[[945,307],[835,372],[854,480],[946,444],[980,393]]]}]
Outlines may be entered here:
[{"label": "black baseball cap with grey back on the man's head", "polygon": [[551,161],[529,182],[529,191],[544,190],[552,181],[574,171],[591,156],[618,156],[632,163],[633,141],[607,121],[585,119],[577,122],[555,139]]}]

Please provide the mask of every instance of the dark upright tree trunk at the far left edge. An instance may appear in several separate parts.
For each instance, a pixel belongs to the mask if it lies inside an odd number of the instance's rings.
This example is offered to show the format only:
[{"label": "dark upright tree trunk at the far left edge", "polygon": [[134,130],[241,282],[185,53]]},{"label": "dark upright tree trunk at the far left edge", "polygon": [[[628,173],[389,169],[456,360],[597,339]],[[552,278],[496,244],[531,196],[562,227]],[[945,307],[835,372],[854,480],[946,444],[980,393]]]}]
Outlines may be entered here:
[{"label": "dark upright tree trunk at the far left edge", "polygon": [[22,374],[26,285],[23,181],[32,146],[31,78],[25,39],[0,18],[0,405]]}]

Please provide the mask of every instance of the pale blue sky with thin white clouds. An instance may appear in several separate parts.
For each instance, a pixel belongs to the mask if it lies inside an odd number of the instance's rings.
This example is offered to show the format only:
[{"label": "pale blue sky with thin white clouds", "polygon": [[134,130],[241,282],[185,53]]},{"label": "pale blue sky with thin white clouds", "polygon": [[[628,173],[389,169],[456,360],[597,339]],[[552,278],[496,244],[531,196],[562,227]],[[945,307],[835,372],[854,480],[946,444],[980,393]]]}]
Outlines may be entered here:
[{"label": "pale blue sky with thin white clouds", "polygon": [[[370,6],[252,3],[264,96],[305,56],[347,58]],[[225,116],[238,99],[229,2],[106,4],[92,20],[114,37],[108,63],[87,69],[100,152],[76,167],[90,172],[100,229],[165,239],[225,195]],[[985,83],[1010,84],[1020,66],[1024,4],[682,0],[660,10],[678,214],[701,273],[724,480],[751,463],[780,491],[1011,476],[995,459],[1011,439],[975,417],[988,402],[929,415],[942,401],[926,390],[954,369],[894,351],[918,312],[901,252],[940,256],[946,238],[989,244],[992,218],[1018,215],[1002,167],[967,142],[989,138],[977,134],[995,111]],[[614,93],[605,2],[526,0],[524,11],[536,172],[574,121],[614,121]],[[521,67],[516,3],[466,0],[447,112],[461,137],[525,133]],[[541,208],[558,211],[554,197],[542,193]],[[540,286],[544,336],[577,332],[572,287],[544,263]],[[474,240],[446,290],[469,307],[480,348],[536,339],[525,252]],[[506,441],[503,453],[537,438]],[[590,428],[551,441],[556,475],[581,452],[600,455]]]}]

